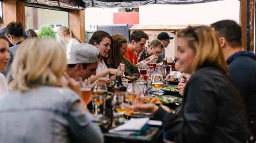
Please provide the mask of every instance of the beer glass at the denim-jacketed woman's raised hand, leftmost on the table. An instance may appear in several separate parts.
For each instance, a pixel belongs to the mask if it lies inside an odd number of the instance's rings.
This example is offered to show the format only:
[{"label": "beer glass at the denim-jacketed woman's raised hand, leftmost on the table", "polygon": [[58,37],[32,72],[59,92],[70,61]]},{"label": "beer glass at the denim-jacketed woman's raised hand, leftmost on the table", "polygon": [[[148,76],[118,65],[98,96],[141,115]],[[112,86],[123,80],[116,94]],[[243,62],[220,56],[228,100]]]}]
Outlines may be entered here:
[{"label": "beer glass at the denim-jacketed woman's raised hand, leftmost on the table", "polygon": [[82,98],[85,102],[86,105],[88,105],[91,101],[91,87],[90,87],[90,81],[89,80],[85,80],[82,83],[81,86],[81,92],[82,92]]}]

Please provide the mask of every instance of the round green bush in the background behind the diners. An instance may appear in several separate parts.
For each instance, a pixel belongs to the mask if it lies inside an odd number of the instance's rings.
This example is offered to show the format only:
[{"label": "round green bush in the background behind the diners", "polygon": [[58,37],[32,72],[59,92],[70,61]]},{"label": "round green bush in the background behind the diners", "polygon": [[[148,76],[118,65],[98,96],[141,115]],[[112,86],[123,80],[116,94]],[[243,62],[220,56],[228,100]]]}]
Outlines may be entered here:
[{"label": "round green bush in the background behind the diners", "polygon": [[56,39],[56,34],[54,30],[52,29],[51,25],[42,25],[38,31],[38,37],[39,38],[54,38]]}]

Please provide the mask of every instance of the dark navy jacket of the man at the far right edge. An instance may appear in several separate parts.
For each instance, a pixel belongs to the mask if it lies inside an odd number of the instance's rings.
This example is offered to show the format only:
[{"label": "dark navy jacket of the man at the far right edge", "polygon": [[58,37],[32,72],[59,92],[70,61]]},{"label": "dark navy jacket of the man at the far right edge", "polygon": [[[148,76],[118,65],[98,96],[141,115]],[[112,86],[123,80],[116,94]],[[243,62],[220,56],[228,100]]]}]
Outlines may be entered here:
[{"label": "dark navy jacket of the man at the far right edge", "polygon": [[256,123],[256,55],[239,51],[227,59],[230,76],[245,98],[249,116]]}]

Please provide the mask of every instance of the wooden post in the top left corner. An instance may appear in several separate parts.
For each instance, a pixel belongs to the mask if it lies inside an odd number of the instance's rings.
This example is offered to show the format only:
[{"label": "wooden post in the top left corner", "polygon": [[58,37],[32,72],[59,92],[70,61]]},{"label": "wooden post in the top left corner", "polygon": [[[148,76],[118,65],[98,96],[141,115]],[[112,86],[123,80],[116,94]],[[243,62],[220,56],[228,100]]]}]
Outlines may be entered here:
[{"label": "wooden post in the top left corner", "polygon": [[25,28],[25,2],[3,0],[3,21],[6,25],[13,21],[22,22]]}]

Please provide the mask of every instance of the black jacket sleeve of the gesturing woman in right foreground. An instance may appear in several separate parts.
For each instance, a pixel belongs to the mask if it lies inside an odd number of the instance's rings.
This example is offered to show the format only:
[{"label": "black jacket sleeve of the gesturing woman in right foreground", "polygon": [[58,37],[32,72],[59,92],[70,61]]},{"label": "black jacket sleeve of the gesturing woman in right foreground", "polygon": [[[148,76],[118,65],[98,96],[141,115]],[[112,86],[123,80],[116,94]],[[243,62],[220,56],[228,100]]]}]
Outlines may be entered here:
[{"label": "black jacket sleeve of the gesturing woman in right foreground", "polygon": [[[163,128],[180,142],[207,142],[212,134],[217,112],[216,90],[212,82],[203,79],[190,79],[183,97],[182,116],[160,114]],[[198,86],[200,85],[200,86]]]}]

